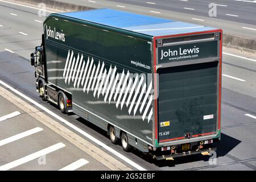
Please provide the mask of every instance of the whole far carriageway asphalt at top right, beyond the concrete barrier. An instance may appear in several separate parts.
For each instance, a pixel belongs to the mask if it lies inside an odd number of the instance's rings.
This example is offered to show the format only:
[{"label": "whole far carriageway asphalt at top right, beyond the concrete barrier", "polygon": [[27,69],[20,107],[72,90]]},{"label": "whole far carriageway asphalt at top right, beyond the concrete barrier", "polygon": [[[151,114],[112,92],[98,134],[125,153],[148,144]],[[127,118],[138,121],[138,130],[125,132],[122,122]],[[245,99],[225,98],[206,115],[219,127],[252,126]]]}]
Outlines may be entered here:
[{"label": "whole far carriageway asphalt at top right, beyond the concrete barrier", "polygon": [[[62,0],[62,2],[94,8],[107,7],[222,28],[224,34],[256,40],[256,3],[252,0],[248,2],[234,0],[73,0],[71,2]],[[226,7],[217,6],[216,16],[210,17],[209,2]]]}]

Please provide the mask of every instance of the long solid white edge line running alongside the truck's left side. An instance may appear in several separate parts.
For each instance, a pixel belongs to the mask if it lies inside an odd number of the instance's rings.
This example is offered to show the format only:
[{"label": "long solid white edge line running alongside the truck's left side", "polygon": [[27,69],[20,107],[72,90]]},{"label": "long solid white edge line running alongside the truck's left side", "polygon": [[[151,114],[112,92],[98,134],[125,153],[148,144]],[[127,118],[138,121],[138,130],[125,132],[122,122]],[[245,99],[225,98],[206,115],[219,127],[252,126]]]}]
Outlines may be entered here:
[{"label": "long solid white edge line running alongside the truck's left side", "polygon": [[[6,84],[2,80],[0,80],[0,84],[5,86],[6,88],[12,90],[14,93],[18,94],[20,97],[24,98],[28,102],[31,102],[31,104],[34,104],[35,106],[38,106],[40,109],[46,111],[46,113],[50,114],[52,117],[58,119],[59,121],[65,123],[65,125],[71,127],[73,130],[76,130],[80,134],[84,135],[86,138],[92,140],[94,143],[97,143],[101,147],[105,148],[106,150],[108,150],[109,152],[111,152],[112,154],[117,156],[119,159],[122,159],[123,161],[125,161],[126,163],[130,164],[131,166],[139,169],[140,171],[146,171],[146,169],[141,167],[141,166],[139,166],[139,164],[137,164],[137,163],[133,162],[132,160],[126,158],[126,156],[124,156],[124,155],[120,154],[119,152],[115,151],[113,148],[107,146],[105,143],[103,143],[100,140],[94,138],[92,135],[86,133],[84,130],[81,130],[79,127],[77,127],[77,126],[73,125],[72,123],[68,122],[66,119],[61,118],[59,115],[53,113],[53,111],[47,109],[43,105],[41,105],[38,102],[32,100],[30,97],[25,96],[23,93],[21,93],[18,90],[14,89],[13,87],[11,87],[10,85]],[[40,156],[42,156],[42,155],[40,155]]]}]

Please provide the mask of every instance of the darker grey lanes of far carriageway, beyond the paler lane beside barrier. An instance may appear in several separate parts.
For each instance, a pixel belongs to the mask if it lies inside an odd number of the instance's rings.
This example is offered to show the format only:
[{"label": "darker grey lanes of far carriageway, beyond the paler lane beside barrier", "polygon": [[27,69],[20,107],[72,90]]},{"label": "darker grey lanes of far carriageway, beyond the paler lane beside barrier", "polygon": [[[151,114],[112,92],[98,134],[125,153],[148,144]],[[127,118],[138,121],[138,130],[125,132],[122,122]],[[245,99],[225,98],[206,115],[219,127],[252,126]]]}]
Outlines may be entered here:
[{"label": "darker grey lanes of far carriageway, beyond the paler lane beside barrier", "polygon": [[153,7],[160,10],[177,11],[199,16],[209,16],[209,4],[216,3],[217,19],[225,19],[233,22],[256,24],[255,1],[234,0],[110,0],[114,2],[127,3],[131,5]]}]

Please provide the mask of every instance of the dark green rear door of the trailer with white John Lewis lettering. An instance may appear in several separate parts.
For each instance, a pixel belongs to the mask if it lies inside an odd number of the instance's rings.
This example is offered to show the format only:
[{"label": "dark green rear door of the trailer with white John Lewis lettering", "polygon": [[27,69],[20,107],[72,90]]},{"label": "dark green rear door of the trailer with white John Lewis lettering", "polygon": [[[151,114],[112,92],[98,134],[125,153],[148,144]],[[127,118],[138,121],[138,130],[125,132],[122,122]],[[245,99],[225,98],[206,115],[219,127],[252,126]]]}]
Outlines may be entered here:
[{"label": "dark green rear door of the trailer with white John Lewis lettering", "polygon": [[197,39],[158,45],[159,143],[217,132],[220,44],[214,34]]}]

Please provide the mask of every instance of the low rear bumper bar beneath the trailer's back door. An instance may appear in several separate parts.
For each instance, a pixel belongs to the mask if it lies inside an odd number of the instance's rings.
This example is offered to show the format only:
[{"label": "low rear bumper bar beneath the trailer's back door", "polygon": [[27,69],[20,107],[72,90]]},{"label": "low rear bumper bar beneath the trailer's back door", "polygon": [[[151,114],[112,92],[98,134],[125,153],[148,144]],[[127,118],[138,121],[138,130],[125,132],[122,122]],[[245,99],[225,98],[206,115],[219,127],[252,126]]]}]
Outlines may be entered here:
[{"label": "low rear bumper bar beneath the trailer's back door", "polygon": [[207,154],[207,152],[210,155],[210,152],[212,151],[216,151],[217,147],[213,147],[213,148],[208,148],[208,149],[203,149],[203,150],[199,150],[199,151],[187,151],[187,152],[183,152],[180,154],[171,154],[171,155],[162,155],[162,156],[153,156],[154,159],[156,160],[173,160],[173,158],[177,158],[177,157],[181,157],[181,156],[187,156],[187,155],[194,155],[194,154],[202,154],[205,155]]}]

